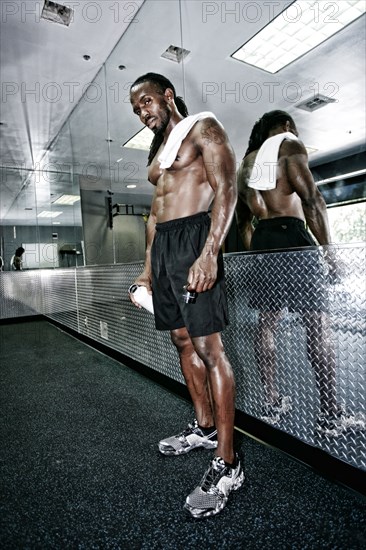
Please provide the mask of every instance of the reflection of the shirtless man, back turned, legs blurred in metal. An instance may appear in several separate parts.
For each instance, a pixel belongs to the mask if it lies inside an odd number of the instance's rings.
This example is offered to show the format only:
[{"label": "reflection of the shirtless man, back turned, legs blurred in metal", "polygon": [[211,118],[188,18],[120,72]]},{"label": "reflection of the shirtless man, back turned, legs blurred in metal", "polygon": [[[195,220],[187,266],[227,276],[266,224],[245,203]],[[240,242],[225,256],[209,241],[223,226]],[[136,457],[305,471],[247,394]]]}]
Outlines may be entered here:
[{"label": "reflection of the shirtless man, back turned, legs blurred in metal", "polygon": [[[238,171],[238,203],[236,219],[239,232],[246,250],[270,250],[294,247],[314,247],[316,243],[305,228],[305,222],[320,245],[331,243],[325,201],[314,183],[308,165],[308,157],[303,143],[298,139],[282,141],[278,153],[275,188],[260,191],[248,186],[258,150],[267,140],[280,133],[290,132],[298,136],[294,121],[284,111],[271,111],[254,125],[249,146]],[[258,220],[253,229],[253,218]],[[335,270],[334,259],[329,249],[325,253],[329,269]],[[316,262],[315,262],[316,263]],[[322,434],[338,435],[342,431],[345,419],[344,410],[336,401],[335,356],[331,346],[329,319],[326,306],[321,303],[321,263],[303,272],[294,265],[291,276],[295,278],[298,288],[296,295],[301,300],[304,285],[310,288],[312,311],[307,304],[299,304],[298,310],[306,328],[307,350],[315,372],[316,384],[320,395],[320,414],[317,417],[316,429]],[[288,270],[287,270],[288,271]],[[264,274],[265,276],[265,274]],[[281,288],[286,289],[287,273],[280,273],[275,279],[280,281]],[[312,283],[314,281],[314,284]],[[258,281],[259,285],[261,281]],[[270,281],[273,286],[273,280]],[[269,291],[271,293],[271,290]],[[306,291],[305,291],[306,292]],[[285,304],[274,303],[279,294],[272,290],[273,296],[267,296],[261,287],[261,304],[254,306],[260,309],[259,328],[256,337],[256,357],[264,384],[266,403],[262,418],[276,424],[290,407],[290,398],[281,396],[275,385],[275,342],[274,330],[280,318],[280,309]],[[296,297],[295,297],[296,298]],[[267,304],[265,304],[267,300]],[[268,307],[268,303],[272,306]],[[267,305],[267,307],[265,307]]]}]

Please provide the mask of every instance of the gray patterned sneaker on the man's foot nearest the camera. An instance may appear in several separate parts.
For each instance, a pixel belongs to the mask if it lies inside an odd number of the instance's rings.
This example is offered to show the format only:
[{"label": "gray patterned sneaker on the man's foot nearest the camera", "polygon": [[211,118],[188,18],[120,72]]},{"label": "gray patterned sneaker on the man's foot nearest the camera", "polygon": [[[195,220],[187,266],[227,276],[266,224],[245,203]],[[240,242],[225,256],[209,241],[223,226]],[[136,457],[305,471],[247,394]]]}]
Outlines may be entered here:
[{"label": "gray patterned sneaker on the man's foot nearest the camera", "polygon": [[236,491],[244,483],[244,472],[239,458],[235,468],[226,466],[224,460],[216,456],[202,478],[201,484],[186,498],[184,509],[194,518],[207,518],[221,512],[231,491]]}]

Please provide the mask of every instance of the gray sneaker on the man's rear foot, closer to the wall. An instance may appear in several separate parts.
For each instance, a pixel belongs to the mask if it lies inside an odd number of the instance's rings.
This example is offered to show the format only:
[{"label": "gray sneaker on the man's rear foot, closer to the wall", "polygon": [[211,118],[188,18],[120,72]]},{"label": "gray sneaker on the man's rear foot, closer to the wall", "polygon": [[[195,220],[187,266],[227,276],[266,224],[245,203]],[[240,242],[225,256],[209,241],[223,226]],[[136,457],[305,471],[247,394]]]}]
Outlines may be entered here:
[{"label": "gray sneaker on the man's rear foot, closer to the wall", "polygon": [[192,449],[216,449],[217,430],[205,435],[198,427],[197,420],[180,434],[159,441],[159,451],[166,456],[176,456],[189,453]]}]

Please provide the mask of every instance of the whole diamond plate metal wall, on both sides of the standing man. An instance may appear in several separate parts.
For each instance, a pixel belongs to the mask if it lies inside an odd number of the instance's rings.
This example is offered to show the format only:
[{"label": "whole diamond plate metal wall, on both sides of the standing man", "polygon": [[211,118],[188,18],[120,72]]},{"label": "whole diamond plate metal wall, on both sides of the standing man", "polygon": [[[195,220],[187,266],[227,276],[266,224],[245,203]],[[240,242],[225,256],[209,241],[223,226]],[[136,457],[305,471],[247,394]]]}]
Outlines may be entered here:
[{"label": "whole diamond plate metal wall, on both sides of the standing man", "polygon": [[[230,325],[223,340],[237,408],[365,470],[365,245],[229,254],[225,267]],[[183,382],[169,334],[128,300],[141,271],[142,263],[131,263],[1,273],[1,318],[42,313]],[[278,418],[263,417],[269,365],[289,409]],[[321,407],[335,399],[342,422],[321,431]]]}]

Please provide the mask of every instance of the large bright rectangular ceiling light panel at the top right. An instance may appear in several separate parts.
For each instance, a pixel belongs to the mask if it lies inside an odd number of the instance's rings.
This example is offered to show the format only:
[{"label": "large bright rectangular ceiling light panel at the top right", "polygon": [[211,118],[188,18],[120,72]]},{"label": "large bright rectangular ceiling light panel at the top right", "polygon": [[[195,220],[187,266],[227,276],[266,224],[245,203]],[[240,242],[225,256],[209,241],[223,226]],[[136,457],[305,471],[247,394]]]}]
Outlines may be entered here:
[{"label": "large bright rectangular ceiling light panel at the top right", "polygon": [[364,14],[365,6],[364,0],[297,0],[232,57],[276,73]]}]

